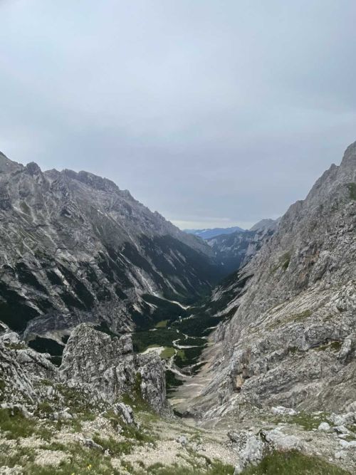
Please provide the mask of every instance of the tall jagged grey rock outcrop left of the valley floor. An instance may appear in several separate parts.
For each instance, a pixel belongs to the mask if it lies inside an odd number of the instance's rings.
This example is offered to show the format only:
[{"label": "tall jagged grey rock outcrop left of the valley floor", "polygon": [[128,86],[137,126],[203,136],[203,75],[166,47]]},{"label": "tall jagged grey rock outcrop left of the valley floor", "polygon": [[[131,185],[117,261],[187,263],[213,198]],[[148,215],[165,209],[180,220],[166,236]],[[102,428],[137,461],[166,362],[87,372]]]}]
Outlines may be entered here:
[{"label": "tall jagged grey rock outcrop left of the valley floor", "polygon": [[115,402],[142,397],[156,412],[167,411],[164,364],[157,353],[136,355],[130,335],[106,335],[82,323],[73,330],[59,368],[60,379]]}]

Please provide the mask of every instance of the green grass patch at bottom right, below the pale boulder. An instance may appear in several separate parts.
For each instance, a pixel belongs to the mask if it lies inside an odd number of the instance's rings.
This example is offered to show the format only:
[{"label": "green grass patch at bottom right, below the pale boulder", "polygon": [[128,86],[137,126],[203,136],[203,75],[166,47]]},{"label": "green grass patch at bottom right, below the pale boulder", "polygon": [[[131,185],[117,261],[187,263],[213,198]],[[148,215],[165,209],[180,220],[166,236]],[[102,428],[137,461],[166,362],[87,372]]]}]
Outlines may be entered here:
[{"label": "green grass patch at bottom right, below the pale boulder", "polygon": [[347,475],[338,466],[297,451],[273,452],[257,466],[249,466],[241,475]]}]

